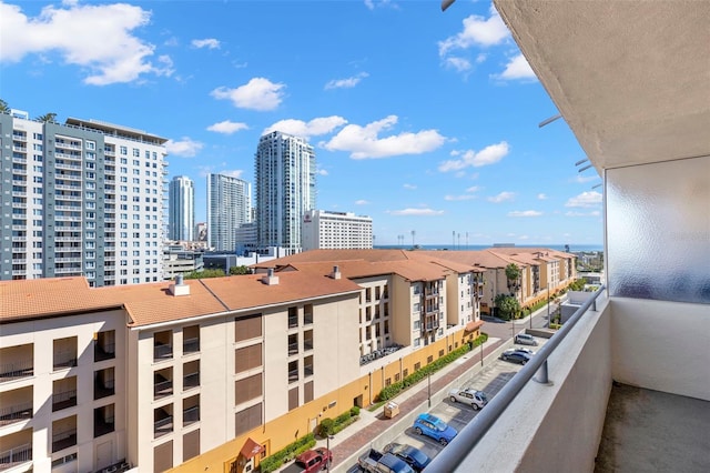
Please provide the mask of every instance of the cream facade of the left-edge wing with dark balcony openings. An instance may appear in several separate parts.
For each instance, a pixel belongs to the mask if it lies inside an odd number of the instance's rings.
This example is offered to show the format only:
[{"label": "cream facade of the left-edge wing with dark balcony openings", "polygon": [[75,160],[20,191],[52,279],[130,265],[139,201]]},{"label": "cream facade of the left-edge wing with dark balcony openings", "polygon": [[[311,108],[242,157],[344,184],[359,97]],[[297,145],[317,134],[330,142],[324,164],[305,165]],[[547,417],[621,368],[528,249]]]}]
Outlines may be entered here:
[{"label": "cream facade of the left-edge wing with dark balcony openings", "polygon": [[[94,334],[109,331],[115,336],[114,355],[97,361]],[[0,451],[29,442],[36,459],[34,472],[94,471],[125,459],[124,334],[122,310],[3,324],[0,331],[3,371],[24,361],[31,363],[33,371],[27,376],[2,378],[2,407],[21,399],[31,401],[32,417],[0,425]],[[94,399],[94,373],[101,370],[112,370],[114,393]],[[112,431],[95,432],[94,410],[105,406],[112,406],[106,407],[113,412]],[[52,470],[52,462],[63,459],[65,462]]]}]

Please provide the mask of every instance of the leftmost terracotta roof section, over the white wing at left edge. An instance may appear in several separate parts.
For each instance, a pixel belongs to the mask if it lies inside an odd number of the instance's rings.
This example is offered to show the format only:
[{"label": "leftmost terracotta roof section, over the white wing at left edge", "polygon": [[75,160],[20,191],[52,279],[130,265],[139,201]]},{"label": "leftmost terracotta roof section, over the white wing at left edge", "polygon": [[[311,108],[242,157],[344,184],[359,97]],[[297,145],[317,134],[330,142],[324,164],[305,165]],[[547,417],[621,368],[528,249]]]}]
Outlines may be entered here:
[{"label": "leftmost terracotta roof section, over the white wing at left edge", "polygon": [[0,322],[121,305],[89,288],[84,278],[0,281]]}]

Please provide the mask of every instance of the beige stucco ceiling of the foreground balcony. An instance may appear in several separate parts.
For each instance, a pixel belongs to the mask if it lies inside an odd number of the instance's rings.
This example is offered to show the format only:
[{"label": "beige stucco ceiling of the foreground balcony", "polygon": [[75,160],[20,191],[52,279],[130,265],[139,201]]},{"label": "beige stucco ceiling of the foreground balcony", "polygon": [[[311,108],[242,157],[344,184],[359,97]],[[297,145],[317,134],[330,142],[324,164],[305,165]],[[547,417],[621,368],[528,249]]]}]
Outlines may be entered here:
[{"label": "beige stucco ceiling of the foreground balcony", "polygon": [[597,170],[710,154],[710,1],[495,4]]}]

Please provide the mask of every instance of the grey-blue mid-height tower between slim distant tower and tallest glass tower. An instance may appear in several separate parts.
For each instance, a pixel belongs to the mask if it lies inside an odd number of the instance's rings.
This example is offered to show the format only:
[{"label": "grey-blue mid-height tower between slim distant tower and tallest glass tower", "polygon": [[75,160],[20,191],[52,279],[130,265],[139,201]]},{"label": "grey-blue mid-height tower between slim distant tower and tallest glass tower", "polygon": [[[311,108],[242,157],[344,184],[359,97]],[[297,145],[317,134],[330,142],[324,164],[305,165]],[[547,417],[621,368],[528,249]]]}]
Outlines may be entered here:
[{"label": "grey-blue mid-height tower between slim distant tower and tallest glass tower", "polygon": [[236,251],[236,229],[251,221],[252,184],[231,175],[207,175],[207,241],[215,251]]}]

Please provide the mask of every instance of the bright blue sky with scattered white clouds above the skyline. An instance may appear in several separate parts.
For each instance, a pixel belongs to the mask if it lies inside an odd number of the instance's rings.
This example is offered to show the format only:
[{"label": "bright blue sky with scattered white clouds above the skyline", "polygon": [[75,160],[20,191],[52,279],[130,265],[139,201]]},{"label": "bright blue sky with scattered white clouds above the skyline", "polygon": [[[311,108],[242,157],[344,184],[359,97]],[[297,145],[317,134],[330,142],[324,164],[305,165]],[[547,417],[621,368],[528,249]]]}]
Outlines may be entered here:
[{"label": "bright blue sky with scattered white clouds above the skyline", "polygon": [[[169,139],[169,179],[315,147],[317,207],[375,244],[600,244],[601,182],[490,2],[0,2],[0,98]],[[415,232],[413,238],[412,232]]]}]

